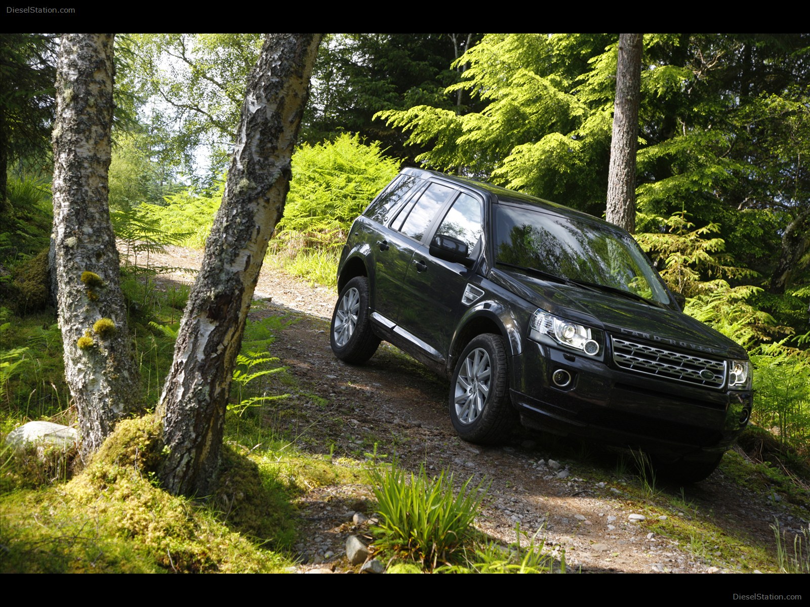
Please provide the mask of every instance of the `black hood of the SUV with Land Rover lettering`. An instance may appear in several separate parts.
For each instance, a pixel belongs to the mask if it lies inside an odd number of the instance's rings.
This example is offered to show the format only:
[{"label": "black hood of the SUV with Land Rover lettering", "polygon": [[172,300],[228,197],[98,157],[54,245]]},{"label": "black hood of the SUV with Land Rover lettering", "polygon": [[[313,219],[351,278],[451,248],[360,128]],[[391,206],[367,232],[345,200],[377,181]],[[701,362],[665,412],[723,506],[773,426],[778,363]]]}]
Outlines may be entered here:
[{"label": "black hood of the SUV with Land Rover lettering", "polygon": [[746,359],[737,343],[709,326],[669,308],[658,308],[608,291],[550,282],[519,272],[493,269],[490,279],[552,314],[604,329],[621,337],[657,342],[661,346]]}]

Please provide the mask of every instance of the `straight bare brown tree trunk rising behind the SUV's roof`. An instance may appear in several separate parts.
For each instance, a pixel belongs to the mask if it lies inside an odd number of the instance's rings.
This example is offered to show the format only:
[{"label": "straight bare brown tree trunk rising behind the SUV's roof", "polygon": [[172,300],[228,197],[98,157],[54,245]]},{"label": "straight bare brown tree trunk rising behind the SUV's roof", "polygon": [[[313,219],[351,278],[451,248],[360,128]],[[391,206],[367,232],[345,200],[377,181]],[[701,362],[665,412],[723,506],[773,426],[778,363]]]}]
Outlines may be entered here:
[{"label": "straight bare brown tree trunk rising behind the SUV's roof", "polygon": [[636,231],[636,148],[641,84],[642,34],[620,34],[606,219],[631,234]]}]

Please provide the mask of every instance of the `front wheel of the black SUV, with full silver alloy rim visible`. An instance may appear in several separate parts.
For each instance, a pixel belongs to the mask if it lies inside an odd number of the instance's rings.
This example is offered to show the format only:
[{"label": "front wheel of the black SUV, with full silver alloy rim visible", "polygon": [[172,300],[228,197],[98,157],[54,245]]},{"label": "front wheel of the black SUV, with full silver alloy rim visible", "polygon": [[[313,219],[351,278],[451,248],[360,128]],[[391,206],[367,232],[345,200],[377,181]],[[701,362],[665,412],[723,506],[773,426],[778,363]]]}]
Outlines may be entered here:
[{"label": "front wheel of the black SUV, with full silver alloy rim visible", "polygon": [[484,333],[458,357],[450,382],[450,420],[470,443],[502,442],[517,418],[509,401],[509,365],[501,336]]}]

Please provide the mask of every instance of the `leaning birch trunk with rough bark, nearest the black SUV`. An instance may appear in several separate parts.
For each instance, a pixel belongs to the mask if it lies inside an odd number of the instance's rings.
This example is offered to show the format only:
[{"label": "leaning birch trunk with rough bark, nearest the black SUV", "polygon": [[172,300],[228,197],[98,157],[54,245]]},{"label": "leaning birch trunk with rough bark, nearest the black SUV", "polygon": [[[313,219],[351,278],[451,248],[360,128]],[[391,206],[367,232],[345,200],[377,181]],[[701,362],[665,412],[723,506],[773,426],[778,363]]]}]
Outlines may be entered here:
[{"label": "leaning birch trunk with rough bark, nearest the black SUV", "polygon": [[250,75],[222,206],[181,320],[158,414],[173,493],[207,495],[219,465],[233,368],[290,158],[320,35],[270,34]]}]

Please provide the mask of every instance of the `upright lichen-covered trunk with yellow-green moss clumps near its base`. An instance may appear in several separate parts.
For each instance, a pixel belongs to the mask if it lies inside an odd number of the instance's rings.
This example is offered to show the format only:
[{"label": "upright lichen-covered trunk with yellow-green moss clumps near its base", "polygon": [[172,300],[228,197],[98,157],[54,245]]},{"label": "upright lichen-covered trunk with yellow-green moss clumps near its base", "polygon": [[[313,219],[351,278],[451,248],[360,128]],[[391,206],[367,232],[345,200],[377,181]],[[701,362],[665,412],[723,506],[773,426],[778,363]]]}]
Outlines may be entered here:
[{"label": "upright lichen-covered trunk with yellow-green moss clumps near its base", "polygon": [[65,376],[91,453],[136,408],[119,262],[107,206],[113,34],[66,34],[53,126],[53,250]]}]

